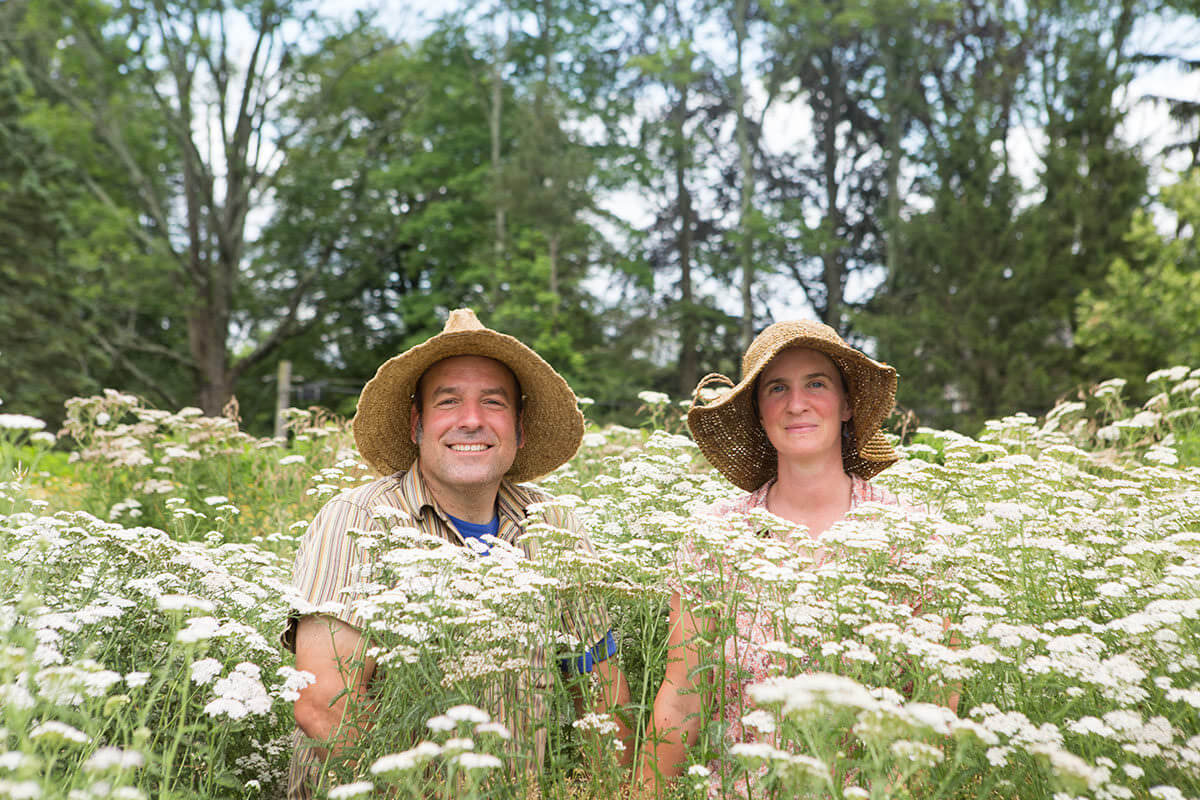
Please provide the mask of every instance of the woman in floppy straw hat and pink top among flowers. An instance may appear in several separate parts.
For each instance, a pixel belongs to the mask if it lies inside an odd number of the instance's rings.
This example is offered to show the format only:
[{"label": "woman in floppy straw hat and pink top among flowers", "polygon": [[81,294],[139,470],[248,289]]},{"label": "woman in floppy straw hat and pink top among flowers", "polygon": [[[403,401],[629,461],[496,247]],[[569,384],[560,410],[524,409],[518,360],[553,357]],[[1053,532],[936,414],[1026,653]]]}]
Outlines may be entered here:
[{"label": "woman in floppy straw hat and pink top among flowers", "polygon": [[[724,375],[706,377],[688,411],[688,427],[704,457],[749,492],[715,513],[764,509],[806,527],[816,540],[860,503],[900,505],[895,495],[868,482],[899,459],[880,432],[895,403],[895,368],[850,347],[828,325],[785,321],[755,338],[742,359],[742,374],[737,385]],[[701,404],[713,381],[732,389]],[[815,558],[823,559],[820,548]],[[680,559],[696,560],[686,542]],[[676,591],[668,630],[671,656],[640,768],[641,783],[650,793],[660,775],[665,781],[682,774],[688,747],[698,738],[704,704],[696,684],[696,642],[713,625],[692,615]],[[743,738],[743,690],[767,675],[770,656],[762,645],[774,638],[769,620],[751,610],[737,613],[736,630],[725,643],[725,660],[733,674],[749,678],[731,681],[726,690],[731,744]],[[719,776],[713,778],[716,789]]]}]

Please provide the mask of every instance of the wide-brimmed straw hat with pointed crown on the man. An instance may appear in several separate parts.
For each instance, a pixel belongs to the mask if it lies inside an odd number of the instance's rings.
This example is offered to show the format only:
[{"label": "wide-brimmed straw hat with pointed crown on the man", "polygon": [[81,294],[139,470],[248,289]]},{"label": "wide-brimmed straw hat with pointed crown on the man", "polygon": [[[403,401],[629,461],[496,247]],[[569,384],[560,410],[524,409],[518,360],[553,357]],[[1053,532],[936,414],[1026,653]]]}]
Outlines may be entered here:
[{"label": "wide-brimmed straw hat with pointed crown on the man", "polygon": [[563,377],[517,339],[484,327],[470,308],[457,308],[440,333],[385,361],[362,387],[354,414],[354,441],[373,470],[391,475],[416,461],[416,445],[409,438],[416,383],[434,363],[456,355],[496,359],[520,384],[524,446],[517,450],[505,477],[541,477],[580,449],[583,414]]}]

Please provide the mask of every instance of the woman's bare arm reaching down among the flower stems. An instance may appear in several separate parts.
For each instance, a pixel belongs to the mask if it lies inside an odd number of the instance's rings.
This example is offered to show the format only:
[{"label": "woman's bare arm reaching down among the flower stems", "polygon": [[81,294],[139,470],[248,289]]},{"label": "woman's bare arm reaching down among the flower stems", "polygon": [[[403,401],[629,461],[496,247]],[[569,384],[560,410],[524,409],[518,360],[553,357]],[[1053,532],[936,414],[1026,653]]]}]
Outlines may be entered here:
[{"label": "woman's bare arm reaching down among the flower stems", "polygon": [[666,676],[654,698],[646,746],[634,775],[635,786],[647,798],[659,796],[660,786],[683,774],[688,748],[700,736],[703,700],[696,670],[701,625],[701,620],[683,608],[679,593],[674,593],[671,596]]}]

